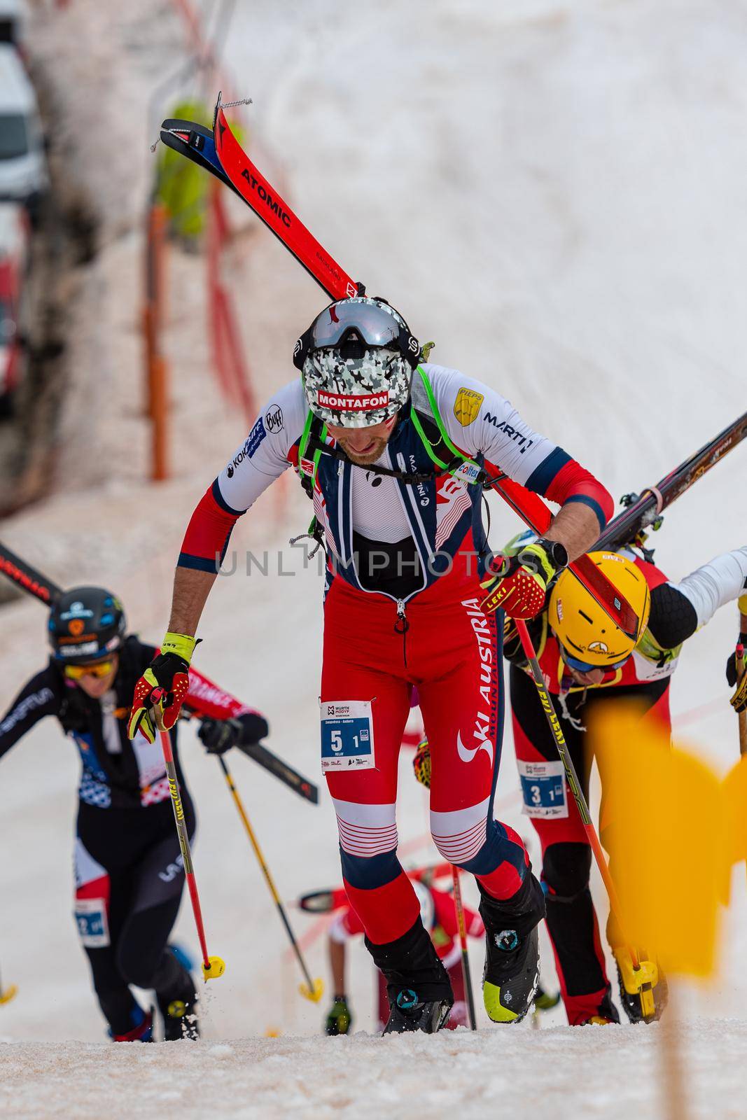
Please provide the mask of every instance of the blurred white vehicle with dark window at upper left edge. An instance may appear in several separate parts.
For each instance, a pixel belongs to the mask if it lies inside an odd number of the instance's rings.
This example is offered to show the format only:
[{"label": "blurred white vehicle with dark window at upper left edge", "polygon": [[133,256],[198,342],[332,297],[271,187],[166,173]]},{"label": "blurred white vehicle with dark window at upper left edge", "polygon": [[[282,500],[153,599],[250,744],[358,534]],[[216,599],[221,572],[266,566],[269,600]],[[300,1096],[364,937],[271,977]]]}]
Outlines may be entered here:
[{"label": "blurred white vehicle with dark window at upper left edge", "polygon": [[16,48],[0,44],[0,200],[34,218],[49,186],[36,93]]}]

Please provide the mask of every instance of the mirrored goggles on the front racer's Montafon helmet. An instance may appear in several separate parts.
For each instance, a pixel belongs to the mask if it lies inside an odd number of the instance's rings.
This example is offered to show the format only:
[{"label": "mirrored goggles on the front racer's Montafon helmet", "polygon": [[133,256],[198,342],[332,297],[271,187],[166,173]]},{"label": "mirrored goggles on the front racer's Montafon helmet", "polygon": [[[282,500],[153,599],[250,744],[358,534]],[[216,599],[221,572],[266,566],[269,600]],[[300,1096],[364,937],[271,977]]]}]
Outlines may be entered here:
[{"label": "mirrored goggles on the front racer's Montafon helmet", "polygon": [[302,371],[310,352],[345,344],[358,344],[361,354],[370,347],[399,351],[413,370],[420,360],[420,343],[401,315],[383,300],[360,296],[330,304],[317,315],[296,343],[293,365]]}]

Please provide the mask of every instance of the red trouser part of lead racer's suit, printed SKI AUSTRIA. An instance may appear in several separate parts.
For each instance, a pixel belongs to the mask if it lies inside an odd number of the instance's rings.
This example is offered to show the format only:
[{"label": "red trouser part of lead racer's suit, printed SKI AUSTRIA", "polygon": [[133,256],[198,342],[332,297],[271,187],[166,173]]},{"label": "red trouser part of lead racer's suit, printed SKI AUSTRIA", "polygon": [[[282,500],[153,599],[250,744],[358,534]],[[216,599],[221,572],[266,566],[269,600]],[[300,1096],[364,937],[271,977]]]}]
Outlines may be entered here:
[{"label": "red trouser part of lead racer's suit, printed SKI AUSTRIA", "polygon": [[[473,561],[474,568],[474,561]],[[493,820],[498,773],[501,662],[496,620],[479,609],[476,576],[455,570],[408,605],[335,579],[325,604],[321,704],[371,700],[375,769],[327,775],[343,876],[371,941],[394,941],[420,905],[396,859],[396,777],[417,685],[431,752],[430,822],[441,856],[473,871],[495,898],[521,886],[521,838]]]}]

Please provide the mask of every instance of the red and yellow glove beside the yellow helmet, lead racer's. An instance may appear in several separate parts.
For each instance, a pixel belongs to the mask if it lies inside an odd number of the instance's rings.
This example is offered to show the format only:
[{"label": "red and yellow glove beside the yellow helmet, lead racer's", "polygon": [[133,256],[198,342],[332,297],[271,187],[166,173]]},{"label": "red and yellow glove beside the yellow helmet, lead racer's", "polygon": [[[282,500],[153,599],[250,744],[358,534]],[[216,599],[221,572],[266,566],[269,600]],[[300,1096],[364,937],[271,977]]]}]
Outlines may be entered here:
[{"label": "red and yellow glove beside the yellow helmet, lead racer's", "polygon": [[480,587],[488,592],[480,607],[492,613],[501,607],[511,618],[533,618],[544,606],[551,579],[568,563],[558,541],[542,538],[524,545],[514,557],[496,553]]}]

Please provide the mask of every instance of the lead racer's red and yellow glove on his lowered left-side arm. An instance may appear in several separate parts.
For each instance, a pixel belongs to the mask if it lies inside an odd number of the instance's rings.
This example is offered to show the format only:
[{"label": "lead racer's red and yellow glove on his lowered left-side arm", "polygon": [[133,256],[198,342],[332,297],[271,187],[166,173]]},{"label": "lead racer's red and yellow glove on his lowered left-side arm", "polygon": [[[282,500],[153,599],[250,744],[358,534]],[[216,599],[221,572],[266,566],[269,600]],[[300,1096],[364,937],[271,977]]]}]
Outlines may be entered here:
[{"label": "lead racer's red and yellow glove on his lowered left-side arm", "polygon": [[197,638],[188,634],[165,636],[160,653],[134,687],[127,729],[131,739],[142,731],[155,743],[157,729],[169,731],[174,727],[189,689],[189,662],[196,644]]}]

